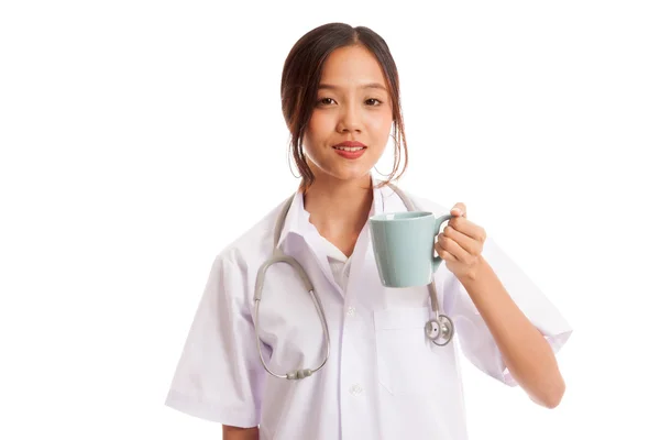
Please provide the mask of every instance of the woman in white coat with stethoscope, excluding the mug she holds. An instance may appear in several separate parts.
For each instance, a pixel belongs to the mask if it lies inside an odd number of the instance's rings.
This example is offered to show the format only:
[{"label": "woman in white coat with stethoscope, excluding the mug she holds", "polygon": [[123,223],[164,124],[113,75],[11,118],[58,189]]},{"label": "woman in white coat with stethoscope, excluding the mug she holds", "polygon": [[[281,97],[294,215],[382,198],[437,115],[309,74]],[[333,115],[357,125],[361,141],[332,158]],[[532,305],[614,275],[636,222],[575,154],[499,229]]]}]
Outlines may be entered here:
[{"label": "woman in white coat with stethoscope, excluding the mug she holds", "polygon": [[[464,440],[459,351],[538,405],[559,405],[554,353],[571,328],[463,204],[435,244],[435,295],[453,333],[443,344],[425,334],[426,287],[381,283],[367,219],[407,209],[386,184],[408,157],[383,38],[342,23],[305,34],[284,64],[282,108],[300,186],[217,255],[166,405],[222,424],[226,440]],[[376,182],[391,133],[395,167]],[[295,258],[314,295],[285,262],[262,278],[277,255]]]}]

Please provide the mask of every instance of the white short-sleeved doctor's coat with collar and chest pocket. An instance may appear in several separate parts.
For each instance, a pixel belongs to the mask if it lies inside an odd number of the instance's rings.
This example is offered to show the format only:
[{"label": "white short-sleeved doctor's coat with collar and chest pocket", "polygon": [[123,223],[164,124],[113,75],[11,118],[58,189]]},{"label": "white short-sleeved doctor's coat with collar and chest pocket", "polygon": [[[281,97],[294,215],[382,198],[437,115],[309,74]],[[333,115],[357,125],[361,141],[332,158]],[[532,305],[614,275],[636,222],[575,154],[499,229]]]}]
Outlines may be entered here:
[{"label": "white short-sleeved doctor's coat with collar and chest pocket", "polygon": [[[437,216],[449,212],[408,196],[418,209]],[[348,279],[338,283],[327,243],[309,223],[300,194],[279,244],[305,267],[319,295],[330,331],[330,358],[320,372],[301,381],[275,378],[264,371],[256,350],[253,295],[257,270],[273,253],[282,207],[216,257],[166,405],[224,425],[260,425],[260,438],[266,440],[465,440],[459,345],[484,373],[507,385],[516,383],[463,286],[444,264],[435,274],[442,310],[453,319],[459,341],[431,344],[424,332],[430,317],[427,288],[383,287],[366,224]],[[371,215],[404,210],[391,188],[374,189]],[[569,323],[493,239],[486,239],[483,255],[557,352],[571,334]],[[260,327],[260,343],[273,371],[316,367],[322,360],[323,333],[314,302],[285,264],[268,270]]]}]

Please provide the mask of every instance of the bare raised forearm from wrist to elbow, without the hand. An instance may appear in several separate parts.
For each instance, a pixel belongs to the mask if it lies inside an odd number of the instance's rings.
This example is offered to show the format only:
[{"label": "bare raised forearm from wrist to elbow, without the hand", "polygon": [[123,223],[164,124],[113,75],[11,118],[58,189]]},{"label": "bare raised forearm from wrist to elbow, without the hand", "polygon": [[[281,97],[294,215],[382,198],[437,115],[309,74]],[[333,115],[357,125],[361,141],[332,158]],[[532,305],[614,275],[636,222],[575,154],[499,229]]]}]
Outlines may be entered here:
[{"label": "bare raised forearm from wrist to elbow, without the hand", "polygon": [[493,268],[480,258],[473,276],[460,277],[484,319],[512,376],[539,405],[554,408],[564,382],[550,344],[516,306]]}]

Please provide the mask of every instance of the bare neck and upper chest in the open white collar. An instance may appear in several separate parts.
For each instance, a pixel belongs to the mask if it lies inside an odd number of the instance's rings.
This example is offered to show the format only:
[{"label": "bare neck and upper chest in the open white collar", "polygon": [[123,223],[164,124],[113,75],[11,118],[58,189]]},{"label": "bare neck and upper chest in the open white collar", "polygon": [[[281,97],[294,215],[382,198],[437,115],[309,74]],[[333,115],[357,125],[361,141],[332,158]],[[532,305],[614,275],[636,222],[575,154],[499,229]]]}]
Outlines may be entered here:
[{"label": "bare neck and upper chest in the open white collar", "polygon": [[304,200],[309,221],[319,233],[350,253],[369,219],[373,204],[371,176],[332,182],[317,178],[306,191]]}]

